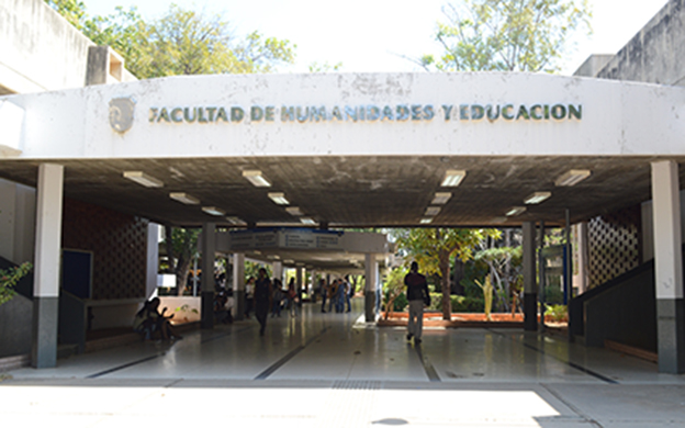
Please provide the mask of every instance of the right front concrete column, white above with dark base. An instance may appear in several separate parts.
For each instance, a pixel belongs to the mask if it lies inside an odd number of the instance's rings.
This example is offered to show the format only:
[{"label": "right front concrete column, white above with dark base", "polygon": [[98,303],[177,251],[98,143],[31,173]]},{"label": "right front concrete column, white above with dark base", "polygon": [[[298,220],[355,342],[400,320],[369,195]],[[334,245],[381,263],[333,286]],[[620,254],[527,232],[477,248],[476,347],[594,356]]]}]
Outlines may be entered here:
[{"label": "right front concrete column, white above with dark base", "polygon": [[652,162],[659,371],[685,372],[685,307],[678,166]]}]

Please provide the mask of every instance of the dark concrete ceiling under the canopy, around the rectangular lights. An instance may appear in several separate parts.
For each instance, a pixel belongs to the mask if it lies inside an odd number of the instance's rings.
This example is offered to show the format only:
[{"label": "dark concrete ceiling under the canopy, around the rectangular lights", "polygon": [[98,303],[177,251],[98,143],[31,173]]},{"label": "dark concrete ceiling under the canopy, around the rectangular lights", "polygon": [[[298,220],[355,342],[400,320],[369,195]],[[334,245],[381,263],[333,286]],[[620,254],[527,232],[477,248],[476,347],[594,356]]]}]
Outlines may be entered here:
[{"label": "dark concrete ceiling under the canopy, around the rectangular lights", "polygon": [[[372,144],[372,143],[370,143]],[[202,212],[216,206],[227,216],[255,225],[302,224],[267,194],[282,192],[291,205],[330,227],[418,226],[436,192],[452,198],[431,226],[518,226],[524,221],[573,223],[651,199],[648,157],[251,157],[188,159],[50,160],[65,166],[65,196],[150,218],[162,224],[199,226],[224,217]],[[685,161],[685,158],[675,158]],[[35,185],[37,160],[0,160],[0,177]],[[440,188],[448,169],[467,170],[458,188]],[[554,180],[570,169],[592,176],[570,188]],[[144,171],[164,182],[145,188],[123,178]],[[244,170],[260,170],[271,188],[256,188]],[[683,171],[683,169],[681,169]],[[681,172],[681,185],[685,173]],[[512,206],[536,191],[552,196],[515,217]],[[186,192],[201,201],[183,205],[169,198]]]}]

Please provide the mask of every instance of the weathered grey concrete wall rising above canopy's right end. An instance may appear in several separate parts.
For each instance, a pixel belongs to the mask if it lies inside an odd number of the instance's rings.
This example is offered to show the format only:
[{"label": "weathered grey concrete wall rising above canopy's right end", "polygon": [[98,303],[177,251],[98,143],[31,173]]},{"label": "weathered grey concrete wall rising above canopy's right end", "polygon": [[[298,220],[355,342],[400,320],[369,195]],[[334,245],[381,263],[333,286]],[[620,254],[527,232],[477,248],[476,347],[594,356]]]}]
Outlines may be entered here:
[{"label": "weathered grey concrete wall rising above canopy's right end", "polygon": [[685,83],[685,0],[669,1],[596,75],[604,79]]}]

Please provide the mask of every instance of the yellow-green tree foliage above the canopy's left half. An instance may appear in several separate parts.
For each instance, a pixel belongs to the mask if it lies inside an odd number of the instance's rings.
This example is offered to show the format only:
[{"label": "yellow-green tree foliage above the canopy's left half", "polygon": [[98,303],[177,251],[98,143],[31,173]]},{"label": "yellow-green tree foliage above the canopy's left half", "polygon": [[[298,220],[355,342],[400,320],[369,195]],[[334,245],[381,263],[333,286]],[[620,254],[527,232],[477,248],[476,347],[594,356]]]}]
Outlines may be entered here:
[{"label": "yellow-green tree foliage above the canopy's left half", "polygon": [[236,36],[220,14],[205,15],[171,4],[165,15],[144,21],[121,7],[89,18],[77,0],[45,0],[98,45],[111,46],[139,79],[181,75],[271,72],[293,63],[295,46],[259,32]]}]

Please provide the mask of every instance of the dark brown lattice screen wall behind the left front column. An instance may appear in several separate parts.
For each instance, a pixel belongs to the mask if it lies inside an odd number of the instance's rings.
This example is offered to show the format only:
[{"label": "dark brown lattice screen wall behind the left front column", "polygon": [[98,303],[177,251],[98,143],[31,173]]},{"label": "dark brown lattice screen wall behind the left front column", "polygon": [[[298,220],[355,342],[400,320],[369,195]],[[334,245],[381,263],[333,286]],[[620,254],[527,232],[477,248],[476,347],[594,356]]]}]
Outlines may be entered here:
[{"label": "dark brown lattice screen wall behind the left front column", "polygon": [[148,221],[65,199],[61,246],[93,252],[92,299],[145,296]]}]

